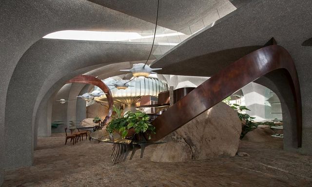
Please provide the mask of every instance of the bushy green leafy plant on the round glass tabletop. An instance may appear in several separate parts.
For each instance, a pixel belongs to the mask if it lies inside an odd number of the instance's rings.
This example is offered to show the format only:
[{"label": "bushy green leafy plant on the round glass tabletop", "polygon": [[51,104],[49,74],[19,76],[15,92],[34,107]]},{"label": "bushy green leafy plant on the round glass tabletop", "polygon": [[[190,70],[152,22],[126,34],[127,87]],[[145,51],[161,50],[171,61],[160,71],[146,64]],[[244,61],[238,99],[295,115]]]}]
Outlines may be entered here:
[{"label": "bushy green leafy plant on the round glass tabletop", "polygon": [[120,108],[114,106],[116,115],[108,123],[106,130],[109,133],[119,131],[122,138],[130,137],[134,134],[148,132],[149,138],[151,139],[151,133],[155,134],[155,127],[148,122],[149,116],[144,112],[130,112],[127,111],[121,115],[122,111]]}]

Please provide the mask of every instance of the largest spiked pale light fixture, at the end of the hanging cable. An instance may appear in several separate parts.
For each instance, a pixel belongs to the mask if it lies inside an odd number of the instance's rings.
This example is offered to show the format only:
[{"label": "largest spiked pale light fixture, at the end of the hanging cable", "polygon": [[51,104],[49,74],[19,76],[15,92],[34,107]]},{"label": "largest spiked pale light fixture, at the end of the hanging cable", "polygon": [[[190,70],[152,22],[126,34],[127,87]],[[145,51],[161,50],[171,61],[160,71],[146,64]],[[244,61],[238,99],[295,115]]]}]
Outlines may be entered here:
[{"label": "largest spiked pale light fixture, at the end of the hanging cable", "polygon": [[130,70],[120,70],[123,72],[131,72],[134,77],[148,77],[150,74],[157,74],[156,70],[161,70],[162,68],[150,68],[149,65],[139,63],[133,64],[133,67]]}]

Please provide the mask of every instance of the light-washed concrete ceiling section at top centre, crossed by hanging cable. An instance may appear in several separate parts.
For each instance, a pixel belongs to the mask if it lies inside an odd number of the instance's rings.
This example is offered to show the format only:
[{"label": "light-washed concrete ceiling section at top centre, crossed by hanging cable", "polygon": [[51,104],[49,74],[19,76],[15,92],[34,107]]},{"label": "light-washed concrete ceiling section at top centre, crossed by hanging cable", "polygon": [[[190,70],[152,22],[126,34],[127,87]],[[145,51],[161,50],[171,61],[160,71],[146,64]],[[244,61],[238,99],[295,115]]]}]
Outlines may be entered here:
[{"label": "light-washed concrete ceiling section at top centre, crossed by hanging cable", "polygon": [[[89,1],[151,23],[156,23],[157,0],[125,0],[122,3],[119,0]],[[190,34],[189,26],[199,20],[205,22],[205,20],[201,19],[209,15],[210,17],[215,16],[215,14],[216,16],[224,16],[222,15],[222,9],[227,8],[229,5],[232,5],[229,0],[159,0],[157,24],[171,30]],[[220,8],[218,10],[220,11],[219,13],[217,8]]]}]

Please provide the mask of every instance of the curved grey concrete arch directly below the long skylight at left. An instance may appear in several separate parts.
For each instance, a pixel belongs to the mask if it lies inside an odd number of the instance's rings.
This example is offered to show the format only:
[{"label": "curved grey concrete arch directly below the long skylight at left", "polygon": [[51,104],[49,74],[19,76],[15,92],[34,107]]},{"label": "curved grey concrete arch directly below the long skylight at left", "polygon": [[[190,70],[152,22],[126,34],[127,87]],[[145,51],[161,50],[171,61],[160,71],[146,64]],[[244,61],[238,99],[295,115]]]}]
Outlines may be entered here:
[{"label": "curved grey concrete arch directly below the long skylight at left", "polygon": [[[9,120],[6,122],[5,132],[7,134],[6,138],[9,140],[7,148],[10,152],[8,156],[11,158],[15,157],[11,162],[7,162],[8,167],[20,166],[20,163],[25,163],[26,160],[29,160],[27,165],[32,163],[31,153],[26,154],[28,156],[26,159],[25,156],[22,157],[18,152],[31,152],[33,150],[32,145],[29,144],[32,142],[31,134],[33,128],[29,127],[33,127],[33,113],[37,112],[41,101],[49,98],[48,95],[51,95],[58,90],[66,80],[100,66],[104,66],[105,63],[116,63],[129,59],[133,61],[142,60],[146,58],[150,51],[150,47],[151,45],[149,44],[51,39],[41,39],[34,44],[20,59],[20,63],[12,75],[8,89],[8,95],[17,93],[20,90],[23,90],[24,94],[17,97],[7,98],[6,118],[10,119],[15,115],[19,115],[25,120],[23,126],[19,127],[18,130],[14,125],[18,124],[18,122]],[[42,56],[40,49],[46,50],[45,56]],[[88,53],[88,55],[82,55],[82,49],[84,52]],[[45,66],[41,65],[42,62],[45,62]],[[29,66],[29,64],[32,65]],[[33,72],[36,72],[36,74]],[[25,79],[24,77],[31,77],[31,79]],[[62,78],[59,79],[59,77]],[[19,111],[14,113],[9,112],[15,109],[12,107],[17,106],[20,108]],[[16,134],[17,131],[20,131],[19,133],[23,134],[26,140],[23,142],[23,145],[10,145],[9,142],[14,142],[12,134]],[[14,147],[18,148],[12,149]],[[26,150],[22,150],[20,147]]]}]

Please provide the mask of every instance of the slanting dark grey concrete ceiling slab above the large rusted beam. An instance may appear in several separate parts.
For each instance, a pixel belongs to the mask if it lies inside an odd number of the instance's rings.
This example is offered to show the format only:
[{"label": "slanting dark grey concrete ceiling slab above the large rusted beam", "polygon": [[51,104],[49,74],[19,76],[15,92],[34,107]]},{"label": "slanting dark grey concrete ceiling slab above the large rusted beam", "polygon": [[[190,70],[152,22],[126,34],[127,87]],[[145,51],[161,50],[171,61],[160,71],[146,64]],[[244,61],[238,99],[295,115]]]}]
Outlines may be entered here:
[{"label": "slanting dark grey concrete ceiling slab above the large rusted beam", "polygon": [[312,35],[311,8],[310,1],[251,1],[187,38],[152,67],[163,68],[160,74],[212,76],[274,37],[295,59],[301,59],[296,62],[300,70],[312,56],[311,48],[301,46]]}]

